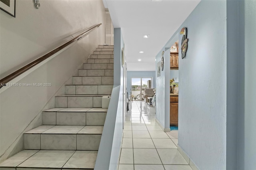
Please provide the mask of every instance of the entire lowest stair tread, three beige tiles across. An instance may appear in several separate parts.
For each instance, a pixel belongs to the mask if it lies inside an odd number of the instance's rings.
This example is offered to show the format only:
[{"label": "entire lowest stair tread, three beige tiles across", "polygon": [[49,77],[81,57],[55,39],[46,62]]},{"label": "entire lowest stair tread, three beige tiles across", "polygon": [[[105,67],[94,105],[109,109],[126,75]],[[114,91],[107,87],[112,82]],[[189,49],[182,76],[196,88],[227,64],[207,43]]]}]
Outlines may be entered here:
[{"label": "entire lowest stair tread, three beige tiles across", "polygon": [[0,167],[93,169],[97,153],[92,150],[22,150],[0,163]]}]

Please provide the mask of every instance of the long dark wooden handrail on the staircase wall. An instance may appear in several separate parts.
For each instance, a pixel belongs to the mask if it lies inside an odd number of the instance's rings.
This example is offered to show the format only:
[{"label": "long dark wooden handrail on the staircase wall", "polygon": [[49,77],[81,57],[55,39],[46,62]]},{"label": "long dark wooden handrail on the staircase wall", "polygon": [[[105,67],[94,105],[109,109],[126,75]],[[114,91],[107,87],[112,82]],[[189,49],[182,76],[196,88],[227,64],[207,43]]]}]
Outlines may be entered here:
[{"label": "long dark wooden handrail on the staircase wall", "polygon": [[59,47],[55,48],[54,50],[48,52],[47,54],[43,55],[42,57],[32,61],[31,63],[25,65],[24,67],[18,69],[17,71],[14,71],[13,73],[7,75],[6,77],[2,78],[0,80],[0,88],[2,88],[4,86],[4,84],[8,83],[9,81],[11,81],[12,79],[14,79],[15,77],[18,77],[19,75],[21,75],[22,73],[28,71],[29,69],[31,69],[32,67],[34,67],[35,65],[41,63],[42,61],[44,61],[45,59],[49,58],[50,56],[54,55],[55,53],[57,53],[58,51],[64,49],[65,47],[67,47],[68,45],[70,45],[71,43],[75,42],[76,40],[79,40],[80,38],[82,38],[84,35],[88,34],[89,32],[91,32],[94,28],[99,27],[100,24],[97,24],[95,26],[92,26],[90,28],[88,28],[87,30],[85,30],[84,32],[80,33],[78,36],[76,36],[75,38],[73,38],[72,40],[69,40],[68,42],[64,43],[63,45],[60,45]]}]

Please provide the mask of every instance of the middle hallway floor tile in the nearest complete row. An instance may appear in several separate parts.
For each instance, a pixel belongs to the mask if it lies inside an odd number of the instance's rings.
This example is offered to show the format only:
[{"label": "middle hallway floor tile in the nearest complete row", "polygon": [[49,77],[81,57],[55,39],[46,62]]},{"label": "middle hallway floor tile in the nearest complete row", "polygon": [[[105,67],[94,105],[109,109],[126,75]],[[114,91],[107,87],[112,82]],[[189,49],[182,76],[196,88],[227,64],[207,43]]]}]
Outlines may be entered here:
[{"label": "middle hallway floor tile in the nearest complete row", "polygon": [[162,164],[156,149],[134,148],[134,164]]}]

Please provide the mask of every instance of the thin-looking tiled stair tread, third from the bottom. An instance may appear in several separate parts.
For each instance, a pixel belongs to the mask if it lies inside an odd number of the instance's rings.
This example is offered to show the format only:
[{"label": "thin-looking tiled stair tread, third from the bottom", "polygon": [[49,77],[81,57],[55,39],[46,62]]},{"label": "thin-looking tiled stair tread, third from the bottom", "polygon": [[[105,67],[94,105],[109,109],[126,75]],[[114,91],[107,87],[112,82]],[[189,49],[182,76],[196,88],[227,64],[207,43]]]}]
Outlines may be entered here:
[{"label": "thin-looking tiled stair tread, third from the bottom", "polygon": [[91,108],[87,108],[87,107],[67,107],[67,108],[62,108],[58,111],[52,111],[54,109],[58,109],[58,108],[52,108],[52,109],[48,109],[45,110],[44,112],[107,112],[108,109],[103,109],[100,107],[91,107]]}]

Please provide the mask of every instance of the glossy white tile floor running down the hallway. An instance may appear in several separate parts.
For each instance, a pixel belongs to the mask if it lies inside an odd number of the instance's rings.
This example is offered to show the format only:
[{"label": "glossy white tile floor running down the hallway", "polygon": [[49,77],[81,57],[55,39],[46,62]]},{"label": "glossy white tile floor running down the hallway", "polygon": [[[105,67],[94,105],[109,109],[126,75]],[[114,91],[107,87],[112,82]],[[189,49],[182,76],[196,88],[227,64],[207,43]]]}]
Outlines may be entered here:
[{"label": "glossy white tile floor running down the hallway", "polygon": [[132,101],[126,115],[118,170],[192,170],[177,149],[178,130],[163,132],[155,108]]}]

